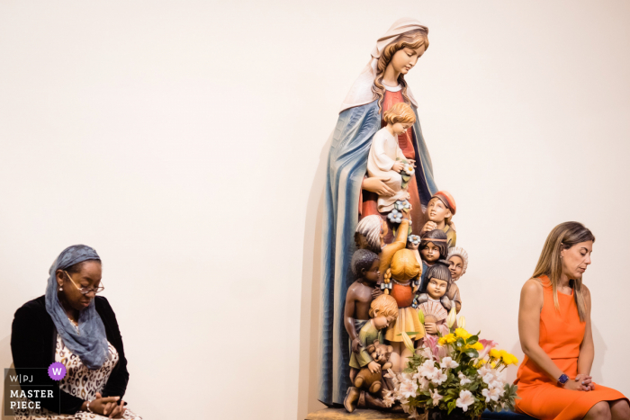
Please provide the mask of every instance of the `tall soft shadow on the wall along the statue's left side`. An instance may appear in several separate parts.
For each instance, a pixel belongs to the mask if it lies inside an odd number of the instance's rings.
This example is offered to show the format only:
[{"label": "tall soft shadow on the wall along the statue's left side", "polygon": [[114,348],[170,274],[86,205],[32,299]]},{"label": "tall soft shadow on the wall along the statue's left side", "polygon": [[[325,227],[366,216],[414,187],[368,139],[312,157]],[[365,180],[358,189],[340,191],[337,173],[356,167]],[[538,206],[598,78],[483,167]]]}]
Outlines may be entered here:
[{"label": "tall soft shadow on the wall along the statue's left side", "polygon": [[304,223],[302,255],[302,313],[300,315],[300,371],[298,377],[298,419],[325,408],[318,401],[318,353],[320,348],[321,237],[324,187],[332,134],[321,148],[320,164],[311,183]]}]

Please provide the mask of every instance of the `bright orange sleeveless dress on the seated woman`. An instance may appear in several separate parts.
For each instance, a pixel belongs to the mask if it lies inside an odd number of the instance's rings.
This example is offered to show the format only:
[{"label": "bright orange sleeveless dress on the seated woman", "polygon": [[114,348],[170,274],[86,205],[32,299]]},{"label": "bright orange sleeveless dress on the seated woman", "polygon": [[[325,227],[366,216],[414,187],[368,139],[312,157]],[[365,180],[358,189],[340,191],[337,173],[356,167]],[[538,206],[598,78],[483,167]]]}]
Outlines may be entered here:
[{"label": "bright orange sleeveless dress on the seated woman", "polygon": [[[560,311],[554,307],[554,292],[546,276],[541,277],[545,290],[543,310],[540,312],[540,341],[545,353],[568,377],[578,374],[578,356],[584,338],[586,322],[580,321],[573,295],[558,293]],[[595,384],[592,391],[563,389],[527,356],[518,368],[517,411],[541,420],[581,419],[599,401],[626,398],[616,389]],[[626,398],[627,399],[627,398]]]}]

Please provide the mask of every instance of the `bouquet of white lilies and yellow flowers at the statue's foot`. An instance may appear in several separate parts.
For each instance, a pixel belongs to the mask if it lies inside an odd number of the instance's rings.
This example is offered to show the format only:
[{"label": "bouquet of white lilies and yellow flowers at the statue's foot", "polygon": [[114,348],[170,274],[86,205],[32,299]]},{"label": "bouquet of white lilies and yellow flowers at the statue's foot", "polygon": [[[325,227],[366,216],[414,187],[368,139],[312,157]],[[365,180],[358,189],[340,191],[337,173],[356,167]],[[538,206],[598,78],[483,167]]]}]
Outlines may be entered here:
[{"label": "bouquet of white lilies and yellow flowers at the statue's foot", "polygon": [[[422,318],[421,311],[419,317]],[[385,375],[394,384],[393,390],[385,392],[385,404],[392,407],[400,401],[411,417],[421,417],[418,409],[423,409],[425,418],[429,410],[450,415],[459,408],[463,416],[478,419],[486,408],[513,409],[517,386],[506,383],[500,372],[510,364],[518,364],[518,359],[495,349],[494,341],[480,340],[479,334],[466,331],[464,317],[460,317],[459,327],[455,328],[455,309],[446,322],[448,335],[427,335],[423,347],[417,350],[409,337],[402,335],[414,354],[405,371],[396,374],[389,370]]]}]

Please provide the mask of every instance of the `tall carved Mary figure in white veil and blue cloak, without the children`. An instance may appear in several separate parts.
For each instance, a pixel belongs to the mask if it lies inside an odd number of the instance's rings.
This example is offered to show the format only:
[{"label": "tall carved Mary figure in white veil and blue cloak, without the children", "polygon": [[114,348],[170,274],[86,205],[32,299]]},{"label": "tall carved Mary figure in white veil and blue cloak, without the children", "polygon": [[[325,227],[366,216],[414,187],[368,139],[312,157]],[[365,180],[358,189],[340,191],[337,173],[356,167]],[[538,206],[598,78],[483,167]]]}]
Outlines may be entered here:
[{"label": "tall carved Mary figure in white veil and blue cloak, without the children", "polygon": [[[354,237],[359,219],[378,214],[378,194],[387,194],[383,180],[366,178],[367,159],[374,133],[383,126],[383,112],[394,103],[409,103],[416,112],[412,129],[399,136],[399,146],[416,162],[408,192],[415,235],[426,221],[425,210],[437,192],[433,168],[418,118],[418,103],[405,75],[428,48],[428,28],[415,19],[394,22],[377,40],[372,58],[356,79],[341,106],[332,136],[324,211],[324,270],[320,341],[320,401],[342,404],[350,385],[350,346],[344,327],[348,286],[354,281],[350,260],[356,250]],[[391,238],[386,238],[386,242]]]}]

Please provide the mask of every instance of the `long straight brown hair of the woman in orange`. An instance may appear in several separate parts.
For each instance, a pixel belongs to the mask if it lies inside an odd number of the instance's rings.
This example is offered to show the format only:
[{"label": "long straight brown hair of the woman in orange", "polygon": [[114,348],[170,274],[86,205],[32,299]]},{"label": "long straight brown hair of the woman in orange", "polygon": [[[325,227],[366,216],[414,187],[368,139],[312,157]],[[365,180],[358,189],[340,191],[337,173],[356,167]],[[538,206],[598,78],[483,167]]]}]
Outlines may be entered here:
[{"label": "long straight brown hair of the woman in orange", "polygon": [[[551,231],[545,240],[545,246],[543,246],[543,251],[540,253],[540,258],[538,258],[538,264],[536,264],[536,270],[532,277],[538,281],[541,281],[541,276],[546,275],[549,277],[554,290],[554,307],[558,310],[560,309],[558,304],[558,282],[563,275],[563,261],[560,258],[560,252],[563,249],[569,249],[576,244],[587,241],[595,242],[595,236],[588,228],[585,228],[584,225],[577,221],[561,223]],[[584,322],[586,317],[586,300],[584,298],[584,289],[582,288],[582,279],[570,279],[570,281],[575,303],[578,305],[580,320]]]}]

